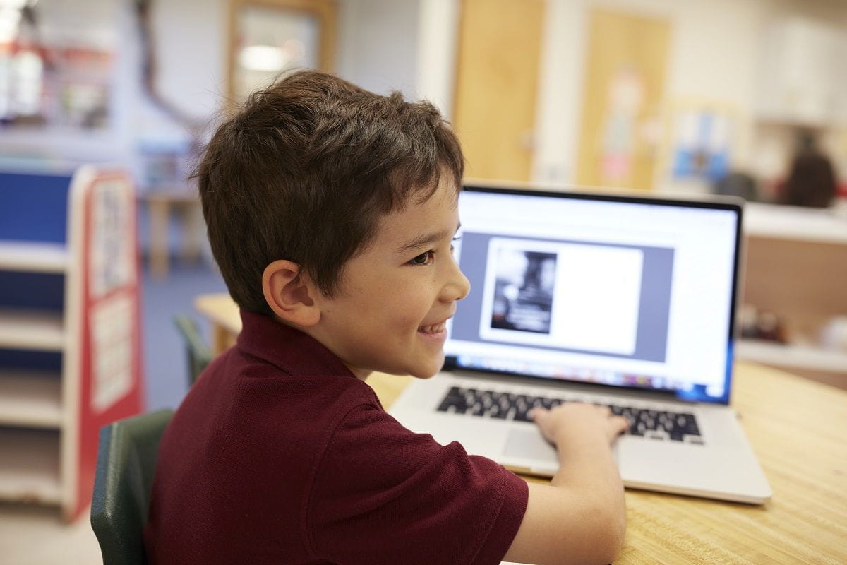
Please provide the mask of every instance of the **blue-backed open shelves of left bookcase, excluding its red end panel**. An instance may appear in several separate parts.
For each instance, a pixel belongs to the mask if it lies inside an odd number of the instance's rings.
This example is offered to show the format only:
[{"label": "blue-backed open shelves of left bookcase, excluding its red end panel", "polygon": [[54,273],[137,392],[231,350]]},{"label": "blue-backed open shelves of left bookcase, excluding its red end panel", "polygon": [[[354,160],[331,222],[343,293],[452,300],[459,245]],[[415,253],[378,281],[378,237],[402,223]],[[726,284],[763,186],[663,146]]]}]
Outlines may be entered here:
[{"label": "blue-backed open shelves of left bookcase, excluding its red end panel", "polygon": [[63,331],[66,273],[38,263],[40,246],[66,246],[70,181],[0,173],[0,500],[63,502],[64,349],[44,346],[38,320]]}]

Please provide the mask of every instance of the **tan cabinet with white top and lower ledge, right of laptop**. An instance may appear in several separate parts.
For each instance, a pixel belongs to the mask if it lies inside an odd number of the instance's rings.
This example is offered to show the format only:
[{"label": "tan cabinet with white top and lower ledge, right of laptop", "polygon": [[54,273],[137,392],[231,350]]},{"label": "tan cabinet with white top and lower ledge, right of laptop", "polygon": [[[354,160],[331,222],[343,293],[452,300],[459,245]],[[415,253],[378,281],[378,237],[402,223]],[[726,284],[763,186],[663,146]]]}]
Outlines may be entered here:
[{"label": "tan cabinet with white top and lower ledge, right of laptop", "polygon": [[743,302],[776,313],[789,343],[738,342],[737,356],[847,388],[847,352],[819,345],[847,316],[847,210],[748,204]]}]

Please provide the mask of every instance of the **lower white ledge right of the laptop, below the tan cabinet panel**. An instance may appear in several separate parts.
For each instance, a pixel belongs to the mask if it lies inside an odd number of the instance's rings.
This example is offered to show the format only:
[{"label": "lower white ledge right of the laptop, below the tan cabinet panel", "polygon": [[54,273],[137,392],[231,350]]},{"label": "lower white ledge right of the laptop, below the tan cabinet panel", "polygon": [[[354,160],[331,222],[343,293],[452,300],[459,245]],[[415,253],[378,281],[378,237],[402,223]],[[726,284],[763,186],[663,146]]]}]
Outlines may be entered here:
[{"label": "lower white ledge right of the laptop, below the tan cabinet panel", "polygon": [[781,345],[769,341],[739,340],[736,342],[735,353],[745,361],[844,373],[847,376],[847,352],[831,352],[813,346]]}]

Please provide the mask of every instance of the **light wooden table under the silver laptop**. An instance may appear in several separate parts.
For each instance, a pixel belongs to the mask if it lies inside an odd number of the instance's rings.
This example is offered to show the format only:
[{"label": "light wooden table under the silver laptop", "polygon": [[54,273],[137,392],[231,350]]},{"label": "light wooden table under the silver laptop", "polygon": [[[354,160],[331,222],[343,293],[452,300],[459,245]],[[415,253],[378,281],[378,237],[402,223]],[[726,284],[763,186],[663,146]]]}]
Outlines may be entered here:
[{"label": "light wooden table under the silver laptop", "polygon": [[[220,346],[241,330],[229,296],[198,296],[196,306],[218,328]],[[389,407],[409,380],[374,374],[368,384]],[[733,405],[772,500],[755,507],[627,490],[616,563],[847,563],[847,392],[737,363]]]}]

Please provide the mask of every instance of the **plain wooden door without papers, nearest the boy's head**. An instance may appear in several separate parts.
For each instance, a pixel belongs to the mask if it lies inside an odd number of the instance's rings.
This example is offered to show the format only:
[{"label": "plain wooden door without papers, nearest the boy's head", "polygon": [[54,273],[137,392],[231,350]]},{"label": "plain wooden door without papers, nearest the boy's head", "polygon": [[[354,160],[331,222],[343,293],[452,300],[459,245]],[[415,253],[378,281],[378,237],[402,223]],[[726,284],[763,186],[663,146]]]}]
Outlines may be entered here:
[{"label": "plain wooden door without papers, nearest the boy's head", "polygon": [[544,0],[464,0],[453,123],[466,176],[529,180]]}]

